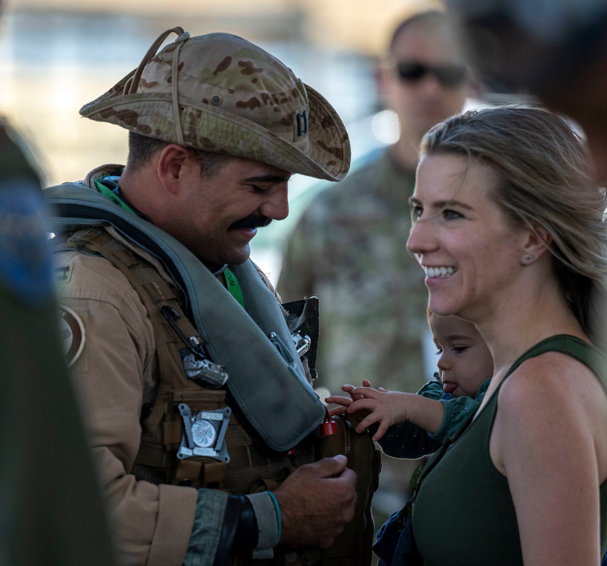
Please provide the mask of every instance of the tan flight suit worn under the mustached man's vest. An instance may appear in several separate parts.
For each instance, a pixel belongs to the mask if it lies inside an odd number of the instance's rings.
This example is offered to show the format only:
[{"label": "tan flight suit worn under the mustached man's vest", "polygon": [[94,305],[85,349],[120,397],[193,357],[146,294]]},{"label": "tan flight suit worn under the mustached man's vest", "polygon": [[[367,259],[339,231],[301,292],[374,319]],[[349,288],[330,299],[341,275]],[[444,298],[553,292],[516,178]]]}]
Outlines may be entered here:
[{"label": "tan flight suit worn under the mustached man's vest", "polygon": [[[102,169],[91,172],[87,182]],[[157,259],[114,228],[106,230],[153,264],[178,293]],[[77,237],[75,233],[71,239]],[[61,240],[61,234],[56,238]],[[67,280],[58,284],[59,303],[80,316],[85,328],[84,350],[72,367],[72,379],[108,499],[119,562],[181,565],[194,523],[197,489],[137,482],[129,474],[140,446],[141,408],[153,400],[158,383],[154,332],[146,308],[126,276],[104,257],[63,251],[55,258],[56,268],[69,268]],[[280,302],[265,274],[257,271]]]}]

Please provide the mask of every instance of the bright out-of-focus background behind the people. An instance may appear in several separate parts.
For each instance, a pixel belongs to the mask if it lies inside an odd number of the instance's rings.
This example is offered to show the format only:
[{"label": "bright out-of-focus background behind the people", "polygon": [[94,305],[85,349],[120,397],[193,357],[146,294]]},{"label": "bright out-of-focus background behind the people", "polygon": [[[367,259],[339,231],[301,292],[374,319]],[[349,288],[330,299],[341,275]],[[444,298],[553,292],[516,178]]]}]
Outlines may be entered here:
[{"label": "bright out-of-focus background behind the people", "polygon": [[[354,172],[399,138],[398,117],[376,92],[378,56],[399,22],[435,6],[429,0],[13,0],[0,24],[0,115],[37,148],[47,185],[83,179],[95,166],[126,162],[127,131],[81,118],[80,107],[137,67],[163,30],[229,32],[273,53],[333,104],[350,134]],[[468,100],[466,107],[478,104]],[[294,176],[290,216],[251,242],[253,261],[275,285],[289,234],[330,185]],[[425,354],[426,378],[436,370],[432,355]],[[384,465],[374,499],[377,527],[407,498],[399,485],[408,478],[399,474],[398,466]]]}]

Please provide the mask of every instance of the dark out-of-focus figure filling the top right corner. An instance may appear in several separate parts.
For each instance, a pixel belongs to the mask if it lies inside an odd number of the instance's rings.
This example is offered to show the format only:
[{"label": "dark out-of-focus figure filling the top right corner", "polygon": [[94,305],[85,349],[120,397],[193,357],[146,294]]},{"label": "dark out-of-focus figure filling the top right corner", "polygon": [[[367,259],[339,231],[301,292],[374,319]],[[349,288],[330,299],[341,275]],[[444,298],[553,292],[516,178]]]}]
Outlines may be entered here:
[{"label": "dark out-of-focus figure filling the top right corner", "polygon": [[497,92],[538,97],[582,128],[607,183],[607,2],[449,0],[470,56]]}]

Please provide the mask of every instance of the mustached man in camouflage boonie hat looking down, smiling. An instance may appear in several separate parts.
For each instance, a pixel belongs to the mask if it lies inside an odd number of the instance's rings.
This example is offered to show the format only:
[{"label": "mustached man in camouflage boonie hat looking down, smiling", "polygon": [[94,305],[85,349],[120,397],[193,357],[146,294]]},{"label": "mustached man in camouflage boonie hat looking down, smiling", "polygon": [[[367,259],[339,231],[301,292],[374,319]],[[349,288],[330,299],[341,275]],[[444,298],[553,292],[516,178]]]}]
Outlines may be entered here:
[{"label": "mustached man in camouflage boonie hat looking down, smiling", "polygon": [[339,116],[259,47],[179,27],[80,112],[129,130],[126,166],[46,191],[118,564],[356,560],[364,537],[339,535],[373,534],[377,456],[365,436],[358,488],[344,456],[320,459],[358,437],[320,437],[317,301],[281,307],[248,259],[257,227],[287,216],[292,173],[347,173]]}]

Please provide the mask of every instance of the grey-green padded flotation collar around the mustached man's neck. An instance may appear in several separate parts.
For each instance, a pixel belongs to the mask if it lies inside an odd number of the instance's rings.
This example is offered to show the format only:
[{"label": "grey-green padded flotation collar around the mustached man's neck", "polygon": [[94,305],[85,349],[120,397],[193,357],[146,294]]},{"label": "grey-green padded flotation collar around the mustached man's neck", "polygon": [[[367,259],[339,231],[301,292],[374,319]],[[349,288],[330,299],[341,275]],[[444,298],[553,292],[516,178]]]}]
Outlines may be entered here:
[{"label": "grey-green padded flotation collar around the mustached man's neck", "polygon": [[[110,223],[164,264],[183,291],[185,313],[209,356],[229,375],[226,388],[232,409],[257,442],[270,451],[287,452],[319,426],[324,406],[308,384],[276,297],[251,261],[229,266],[240,284],[245,311],[191,251],[152,223],[76,183],[46,189],[45,194],[56,215],[53,231]],[[273,332],[290,350],[294,363],[285,361],[268,339]],[[161,417],[158,407],[151,415],[156,423]]]}]

